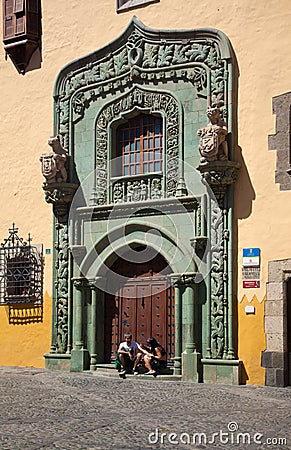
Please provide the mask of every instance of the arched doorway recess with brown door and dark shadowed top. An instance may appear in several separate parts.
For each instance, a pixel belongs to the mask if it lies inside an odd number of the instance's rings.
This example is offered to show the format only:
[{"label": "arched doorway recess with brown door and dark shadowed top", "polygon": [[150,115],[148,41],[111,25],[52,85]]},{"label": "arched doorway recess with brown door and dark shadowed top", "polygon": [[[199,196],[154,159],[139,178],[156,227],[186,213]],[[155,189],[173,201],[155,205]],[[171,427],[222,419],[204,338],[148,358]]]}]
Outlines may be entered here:
[{"label": "arched doorway recess with brown door and dark shadowed top", "polygon": [[[115,294],[105,296],[105,362],[114,360],[124,333],[145,343],[154,336],[166,349],[168,362],[174,358],[174,289],[166,273],[170,272],[165,259],[143,246],[135,252],[148,253],[146,262],[132,261],[125,254],[111,266],[111,271],[124,277]],[[161,273],[163,271],[163,273]]]}]

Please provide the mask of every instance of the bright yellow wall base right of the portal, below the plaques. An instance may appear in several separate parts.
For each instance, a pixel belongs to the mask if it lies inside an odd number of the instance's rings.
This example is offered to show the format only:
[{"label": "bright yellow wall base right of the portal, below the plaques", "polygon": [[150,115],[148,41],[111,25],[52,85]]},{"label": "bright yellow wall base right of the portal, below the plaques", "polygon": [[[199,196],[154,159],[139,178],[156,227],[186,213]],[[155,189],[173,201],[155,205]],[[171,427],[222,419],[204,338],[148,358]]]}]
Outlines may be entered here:
[{"label": "bright yellow wall base right of the portal, below the plaques", "polygon": [[[265,300],[259,302],[256,295],[244,295],[238,305],[238,355],[243,361],[242,381],[246,384],[265,384],[265,369],[261,367],[262,351],[266,348]],[[253,306],[255,313],[247,314],[246,306]]]}]

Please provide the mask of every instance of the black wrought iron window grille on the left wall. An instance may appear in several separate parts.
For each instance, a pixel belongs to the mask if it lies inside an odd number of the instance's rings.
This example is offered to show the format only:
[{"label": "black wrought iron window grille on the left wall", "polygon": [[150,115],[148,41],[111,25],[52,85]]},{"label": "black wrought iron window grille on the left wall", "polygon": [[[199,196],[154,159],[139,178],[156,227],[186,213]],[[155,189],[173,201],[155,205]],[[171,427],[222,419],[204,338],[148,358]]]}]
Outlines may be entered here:
[{"label": "black wrought iron window grille on the left wall", "polygon": [[13,223],[0,246],[0,304],[42,303],[43,252],[18,235]]}]

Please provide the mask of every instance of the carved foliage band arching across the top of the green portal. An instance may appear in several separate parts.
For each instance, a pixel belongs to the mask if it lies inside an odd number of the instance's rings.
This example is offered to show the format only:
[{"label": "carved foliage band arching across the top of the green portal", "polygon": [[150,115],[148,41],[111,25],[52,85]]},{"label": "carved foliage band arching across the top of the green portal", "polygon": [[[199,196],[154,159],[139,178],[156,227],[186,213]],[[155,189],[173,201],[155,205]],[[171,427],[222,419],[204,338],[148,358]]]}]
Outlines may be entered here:
[{"label": "carved foliage band arching across the top of the green portal", "polygon": [[192,83],[227,116],[226,61],[221,59],[214,39],[161,40],[158,32],[149,38],[135,25],[126,42],[116,47],[108,47],[106,56],[96,57],[95,61],[92,57],[91,62],[63,78],[56,102],[58,132],[64,137],[65,147],[70,121],[83,117],[92,101],[135,84],[164,84],[171,80]]}]

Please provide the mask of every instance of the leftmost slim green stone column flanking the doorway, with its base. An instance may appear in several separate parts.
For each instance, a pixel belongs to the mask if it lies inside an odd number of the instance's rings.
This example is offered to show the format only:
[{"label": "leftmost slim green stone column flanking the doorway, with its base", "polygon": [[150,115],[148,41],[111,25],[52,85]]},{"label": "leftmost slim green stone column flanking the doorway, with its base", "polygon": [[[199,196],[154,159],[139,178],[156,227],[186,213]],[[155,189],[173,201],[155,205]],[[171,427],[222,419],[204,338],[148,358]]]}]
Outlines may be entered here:
[{"label": "leftmost slim green stone column flanking the doorway, with its base", "polygon": [[74,348],[71,352],[71,372],[81,372],[89,368],[89,352],[84,348],[83,338],[83,306],[84,290],[87,287],[87,280],[84,277],[73,278],[74,299],[73,299],[73,328],[75,331]]}]

